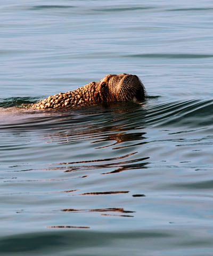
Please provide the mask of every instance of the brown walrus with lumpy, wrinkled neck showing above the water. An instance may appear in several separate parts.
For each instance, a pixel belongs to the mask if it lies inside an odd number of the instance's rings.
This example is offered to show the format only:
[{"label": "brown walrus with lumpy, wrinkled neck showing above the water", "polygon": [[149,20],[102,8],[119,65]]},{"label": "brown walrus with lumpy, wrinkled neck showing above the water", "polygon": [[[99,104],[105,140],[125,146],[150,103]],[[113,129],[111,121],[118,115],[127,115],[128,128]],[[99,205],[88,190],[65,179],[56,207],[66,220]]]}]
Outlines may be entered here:
[{"label": "brown walrus with lumpy, wrinkled neck showing above the water", "polygon": [[34,103],[35,109],[73,107],[111,101],[142,101],[145,89],[136,75],[106,75],[99,82],[91,82],[74,91],[55,94]]}]

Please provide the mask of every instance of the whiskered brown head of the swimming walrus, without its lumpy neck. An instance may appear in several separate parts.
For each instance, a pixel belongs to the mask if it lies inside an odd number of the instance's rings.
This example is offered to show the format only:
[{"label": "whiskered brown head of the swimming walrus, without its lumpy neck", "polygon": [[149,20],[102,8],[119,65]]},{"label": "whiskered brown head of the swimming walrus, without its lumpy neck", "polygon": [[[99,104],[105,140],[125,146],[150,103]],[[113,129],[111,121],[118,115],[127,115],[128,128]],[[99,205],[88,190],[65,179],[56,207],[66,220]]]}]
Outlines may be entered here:
[{"label": "whiskered brown head of the swimming walrus, without its lumpy neck", "polygon": [[110,101],[142,101],[145,89],[136,75],[106,75],[97,82],[102,102]]}]

